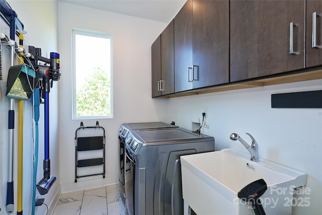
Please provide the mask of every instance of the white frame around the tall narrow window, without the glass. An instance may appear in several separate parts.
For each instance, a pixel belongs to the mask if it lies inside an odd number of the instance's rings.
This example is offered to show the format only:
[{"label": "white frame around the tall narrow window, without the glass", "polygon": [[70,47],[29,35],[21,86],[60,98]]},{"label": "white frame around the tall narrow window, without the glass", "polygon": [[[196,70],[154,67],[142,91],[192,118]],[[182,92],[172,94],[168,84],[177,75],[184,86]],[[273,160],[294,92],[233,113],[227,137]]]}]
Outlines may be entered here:
[{"label": "white frame around the tall narrow window, without the glass", "polygon": [[[75,74],[75,34],[84,35],[84,36],[97,36],[101,38],[110,39],[110,51],[111,51],[111,115],[110,116],[77,116],[76,115],[76,74]],[[99,44],[98,44],[99,45]],[[108,33],[90,31],[90,30],[83,30],[83,29],[72,29],[72,119],[109,119],[113,118],[113,35]]]}]

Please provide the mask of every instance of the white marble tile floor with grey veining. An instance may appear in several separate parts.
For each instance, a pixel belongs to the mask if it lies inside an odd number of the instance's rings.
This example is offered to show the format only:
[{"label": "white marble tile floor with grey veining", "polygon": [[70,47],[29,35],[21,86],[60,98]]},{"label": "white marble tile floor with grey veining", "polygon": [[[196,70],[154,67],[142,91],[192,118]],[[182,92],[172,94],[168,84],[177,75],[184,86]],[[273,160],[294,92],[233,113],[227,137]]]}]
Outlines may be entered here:
[{"label": "white marble tile floor with grey veining", "polygon": [[118,184],[63,193],[52,215],[126,215]]}]

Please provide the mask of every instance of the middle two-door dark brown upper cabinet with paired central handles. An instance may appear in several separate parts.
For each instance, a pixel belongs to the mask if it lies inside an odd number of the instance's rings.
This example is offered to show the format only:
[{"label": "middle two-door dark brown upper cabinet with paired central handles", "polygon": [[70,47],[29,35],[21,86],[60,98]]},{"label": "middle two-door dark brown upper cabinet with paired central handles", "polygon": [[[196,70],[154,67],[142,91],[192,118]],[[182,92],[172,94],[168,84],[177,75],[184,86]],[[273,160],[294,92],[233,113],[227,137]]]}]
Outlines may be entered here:
[{"label": "middle two-door dark brown upper cabinet with paired central handles", "polygon": [[229,82],[229,2],[187,1],[175,17],[175,92]]}]

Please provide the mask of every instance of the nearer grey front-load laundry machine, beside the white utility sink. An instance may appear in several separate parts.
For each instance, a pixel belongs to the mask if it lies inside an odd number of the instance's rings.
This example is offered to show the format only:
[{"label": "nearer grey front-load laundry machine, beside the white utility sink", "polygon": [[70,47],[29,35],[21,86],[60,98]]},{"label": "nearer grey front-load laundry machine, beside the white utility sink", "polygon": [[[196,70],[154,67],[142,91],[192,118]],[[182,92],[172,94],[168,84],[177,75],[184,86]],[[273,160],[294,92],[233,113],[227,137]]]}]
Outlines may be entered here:
[{"label": "nearer grey front-load laundry machine, beside the white utility sink", "polygon": [[125,138],[128,214],[183,214],[180,156],[215,150],[212,136],[184,128],[130,130]]}]

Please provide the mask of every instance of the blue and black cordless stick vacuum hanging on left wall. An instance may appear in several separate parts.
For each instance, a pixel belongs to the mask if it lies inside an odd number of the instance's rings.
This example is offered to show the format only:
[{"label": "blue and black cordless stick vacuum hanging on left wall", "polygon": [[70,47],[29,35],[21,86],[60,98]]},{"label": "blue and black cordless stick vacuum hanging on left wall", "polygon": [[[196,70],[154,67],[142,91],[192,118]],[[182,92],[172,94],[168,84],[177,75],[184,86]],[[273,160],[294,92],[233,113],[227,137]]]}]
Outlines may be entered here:
[{"label": "blue and black cordless stick vacuum hanging on left wall", "polygon": [[[52,184],[56,181],[56,177],[50,175],[50,159],[49,159],[49,92],[52,87],[53,81],[58,81],[60,79],[59,72],[59,54],[56,52],[50,52],[50,59],[41,56],[41,49],[29,46],[29,52],[35,56],[33,59],[33,64],[37,68],[39,73],[39,78],[42,79],[41,98],[44,101],[44,127],[45,127],[45,142],[44,142],[44,177],[36,185],[40,195],[45,195],[48,193]],[[50,66],[38,65],[38,60],[45,63],[50,63]]]}]

